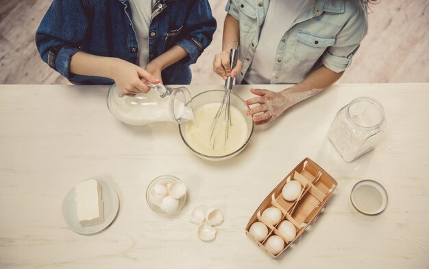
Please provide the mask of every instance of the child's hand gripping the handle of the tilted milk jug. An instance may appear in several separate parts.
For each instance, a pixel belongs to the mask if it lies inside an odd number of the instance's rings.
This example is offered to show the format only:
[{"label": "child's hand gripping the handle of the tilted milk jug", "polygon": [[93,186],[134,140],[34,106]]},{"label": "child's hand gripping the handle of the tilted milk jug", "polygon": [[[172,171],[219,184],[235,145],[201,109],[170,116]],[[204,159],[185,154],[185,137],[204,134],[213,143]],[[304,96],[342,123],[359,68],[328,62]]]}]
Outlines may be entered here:
[{"label": "child's hand gripping the handle of the tilted milk jug", "polygon": [[111,78],[117,84],[119,91],[125,95],[147,93],[150,88],[143,82],[144,80],[154,84],[160,83],[160,80],[145,69],[120,59],[114,62]]}]

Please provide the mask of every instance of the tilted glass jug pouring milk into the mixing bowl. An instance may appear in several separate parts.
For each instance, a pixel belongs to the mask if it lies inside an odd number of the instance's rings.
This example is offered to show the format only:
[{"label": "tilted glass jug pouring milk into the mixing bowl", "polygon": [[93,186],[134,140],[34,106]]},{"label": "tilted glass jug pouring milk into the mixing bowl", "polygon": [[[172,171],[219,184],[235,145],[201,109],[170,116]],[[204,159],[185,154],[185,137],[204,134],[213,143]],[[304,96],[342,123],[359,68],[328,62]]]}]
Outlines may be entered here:
[{"label": "tilted glass jug pouring milk into the mixing bowl", "polygon": [[193,120],[191,94],[185,87],[166,88],[162,84],[148,84],[151,91],[134,96],[124,95],[116,84],[108,93],[108,108],[125,124],[144,125],[156,121],[184,124]]}]

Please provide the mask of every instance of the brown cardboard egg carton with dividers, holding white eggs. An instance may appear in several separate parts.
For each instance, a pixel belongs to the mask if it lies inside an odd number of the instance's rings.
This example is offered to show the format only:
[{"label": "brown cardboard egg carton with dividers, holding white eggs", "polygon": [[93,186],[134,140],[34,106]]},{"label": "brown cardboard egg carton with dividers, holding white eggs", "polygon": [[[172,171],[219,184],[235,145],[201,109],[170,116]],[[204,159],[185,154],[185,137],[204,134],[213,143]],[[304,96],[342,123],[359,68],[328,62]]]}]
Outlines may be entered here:
[{"label": "brown cardboard egg carton with dividers, holding white eggs", "polygon": [[[299,194],[297,200],[289,202],[284,200],[282,196],[282,189],[286,183],[290,180],[298,180],[301,183],[302,191]],[[287,176],[280,182],[277,187],[271,191],[271,193],[265,198],[260,204],[258,209],[250,218],[246,226],[246,235],[252,239],[262,250],[265,251],[271,258],[275,259],[281,255],[286,248],[288,248],[302,233],[306,230],[308,225],[315,220],[317,214],[320,213],[321,209],[325,206],[326,202],[332,195],[334,189],[338,183],[330,176],[325,170],[323,170],[317,163],[309,158],[304,159],[299,163],[295,169],[293,169]],[[277,207],[282,212],[282,220],[289,220],[295,226],[297,234],[290,242],[276,227],[278,224],[273,226],[262,218],[262,212],[268,207]],[[249,233],[250,226],[254,222],[262,222],[268,227],[268,235],[262,242],[259,242]],[[285,242],[285,246],[280,253],[273,255],[269,253],[265,248],[264,243],[271,235],[278,235],[282,237]]]}]

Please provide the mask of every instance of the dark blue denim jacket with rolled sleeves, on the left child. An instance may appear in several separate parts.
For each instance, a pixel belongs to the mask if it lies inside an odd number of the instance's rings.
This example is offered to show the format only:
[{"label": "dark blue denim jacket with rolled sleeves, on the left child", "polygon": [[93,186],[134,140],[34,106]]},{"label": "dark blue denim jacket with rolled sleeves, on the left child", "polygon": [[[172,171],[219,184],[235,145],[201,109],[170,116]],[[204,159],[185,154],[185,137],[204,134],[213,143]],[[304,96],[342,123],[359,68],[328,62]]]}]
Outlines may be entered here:
[{"label": "dark blue denim jacket with rolled sleeves, on the left child", "polygon": [[[127,0],[53,0],[36,32],[42,60],[75,84],[112,84],[70,73],[77,51],[138,65],[138,44]],[[162,71],[165,84],[189,84],[191,69],[211,43],[216,21],[208,0],[157,0],[149,27],[149,61],[179,45],[188,56]]]}]

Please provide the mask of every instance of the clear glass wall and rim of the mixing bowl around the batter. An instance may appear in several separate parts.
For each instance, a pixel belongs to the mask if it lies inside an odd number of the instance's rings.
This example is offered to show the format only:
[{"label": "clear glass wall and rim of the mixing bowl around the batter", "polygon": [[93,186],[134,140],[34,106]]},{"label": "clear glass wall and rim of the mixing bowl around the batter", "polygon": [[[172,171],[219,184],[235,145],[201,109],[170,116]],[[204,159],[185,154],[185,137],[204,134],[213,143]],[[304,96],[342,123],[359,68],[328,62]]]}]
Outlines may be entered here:
[{"label": "clear glass wall and rim of the mixing bowl around the batter", "polygon": [[[193,105],[194,110],[196,110],[197,108],[199,108],[199,106],[202,106],[204,104],[221,102],[224,93],[225,93],[225,91],[212,90],[212,91],[205,91],[203,93],[199,93],[198,95],[195,95],[192,98],[192,105]],[[219,156],[219,155],[210,156],[207,154],[203,154],[203,153],[199,152],[198,150],[195,150],[195,148],[193,148],[193,146],[191,145],[191,143],[189,143],[189,141],[186,137],[186,132],[185,132],[186,124],[180,124],[179,125],[180,137],[182,137],[182,140],[184,141],[186,147],[188,147],[189,150],[191,150],[194,154],[196,154],[200,158],[206,159],[209,161],[223,161],[226,159],[230,159],[233,156],[236,156],[238,153],[240,153],[246,147],[246,145],[249,143],[250,138],[252,137],[252,134],[254,131],[254,122],[252,120],[252,117],[245,115],[245,111],[249,109],[249,106],[245,106],[244,100],[241,99],[241,97],[239,97],[238,95],[236,95],[234,93],[231,93],[230,105],[235,106],[236,108],[238,108],[238,110],[241,113],[243,113],[243,115],[246,119],[246,124],[247,124],[247,138],[245,139],[243,145],[241,145],[237,150],[235,150],[234,152],[231,152],[229,154],[225,154],[225,155],[221,155],[221,156]]]}]

